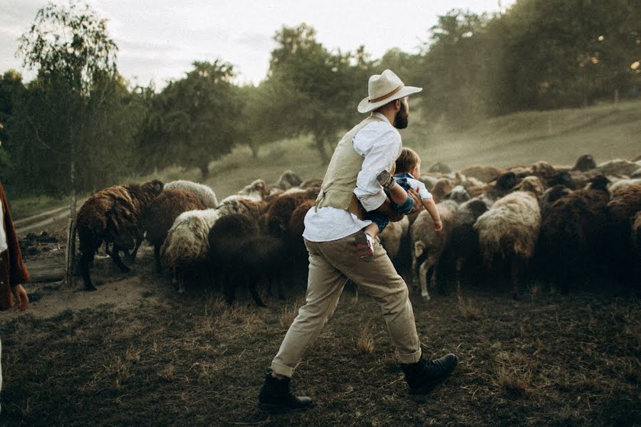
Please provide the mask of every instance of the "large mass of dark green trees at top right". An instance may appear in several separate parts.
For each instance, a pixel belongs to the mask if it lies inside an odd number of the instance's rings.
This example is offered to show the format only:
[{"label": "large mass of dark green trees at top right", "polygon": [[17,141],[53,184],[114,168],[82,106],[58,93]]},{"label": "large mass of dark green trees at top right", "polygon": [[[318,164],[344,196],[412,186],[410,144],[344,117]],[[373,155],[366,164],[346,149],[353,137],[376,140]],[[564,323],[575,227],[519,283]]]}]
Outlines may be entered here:
[{"label": "large mass of dark green trees at top right", "polygon": [[634,0],[518,0],[449,11],[417,58],[427,117],[453,127],[520,110],[592,105],[641,85]]}]

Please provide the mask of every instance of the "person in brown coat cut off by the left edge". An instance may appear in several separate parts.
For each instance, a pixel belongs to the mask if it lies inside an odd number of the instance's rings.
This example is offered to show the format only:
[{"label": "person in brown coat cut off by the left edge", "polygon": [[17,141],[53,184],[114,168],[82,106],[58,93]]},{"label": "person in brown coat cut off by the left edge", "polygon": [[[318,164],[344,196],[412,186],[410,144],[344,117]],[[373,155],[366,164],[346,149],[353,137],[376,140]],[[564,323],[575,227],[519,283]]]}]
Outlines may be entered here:
[{"label": "person in brown coat cut off by the left edge", "polygon": [[29,298],[22,283],[29,280],[29,272],[22,262],[18,236],[1,183],[0,211],[0,310],[14,307],[13,295],[18,309],[24,311],[29,306]]}]

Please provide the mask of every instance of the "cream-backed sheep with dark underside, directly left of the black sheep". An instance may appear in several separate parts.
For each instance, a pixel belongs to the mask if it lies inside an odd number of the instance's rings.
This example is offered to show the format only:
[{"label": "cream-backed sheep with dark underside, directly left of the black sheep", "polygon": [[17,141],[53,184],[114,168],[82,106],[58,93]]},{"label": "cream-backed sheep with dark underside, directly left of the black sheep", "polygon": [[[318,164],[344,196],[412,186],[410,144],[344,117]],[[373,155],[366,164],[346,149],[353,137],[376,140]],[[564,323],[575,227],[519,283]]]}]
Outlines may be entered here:
[{"label": "cream-backed sheep with dark underside, directly left of the black sheep", "polygon": [[160,255],[174,271],[179,292],[184,292],[184,273],[207,263],[209,230],[220,216],[218,209],[183,212],[167,233]]}]

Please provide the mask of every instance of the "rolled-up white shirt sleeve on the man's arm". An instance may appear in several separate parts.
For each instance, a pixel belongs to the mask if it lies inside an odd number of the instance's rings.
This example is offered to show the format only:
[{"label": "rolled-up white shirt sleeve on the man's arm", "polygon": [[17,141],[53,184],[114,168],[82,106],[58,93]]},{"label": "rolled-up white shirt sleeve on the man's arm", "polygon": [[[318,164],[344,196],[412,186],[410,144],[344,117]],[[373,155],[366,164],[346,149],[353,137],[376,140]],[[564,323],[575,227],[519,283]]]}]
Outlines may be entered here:
[{"label": "rolled-up white shirt sleeve on the man's arm", "polygon": [[401,137],[389,124],[372,123],[355,135],[353,144],[356,152],[365,157],[356,177],[354,194],[365,211],[373,211],[387,199],[376,176],[383,170],[390,172],[392,169],[402,149]]}]

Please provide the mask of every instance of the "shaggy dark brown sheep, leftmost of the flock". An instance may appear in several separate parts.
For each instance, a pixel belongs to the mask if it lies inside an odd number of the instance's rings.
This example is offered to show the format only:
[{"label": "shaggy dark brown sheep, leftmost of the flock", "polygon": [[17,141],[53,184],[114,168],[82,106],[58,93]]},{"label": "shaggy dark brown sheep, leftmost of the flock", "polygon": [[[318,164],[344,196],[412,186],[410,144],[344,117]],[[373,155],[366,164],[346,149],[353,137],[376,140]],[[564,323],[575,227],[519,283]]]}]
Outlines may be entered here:
[{"label": "shaggy dark brown sheep, leftmost of the flock", "polygon": [[145,184],[111,186],[90,196],[76,216],[80,238],[80,272],[85,288],[95,290],[89,275],[89,263],[105,243],[113,243],[110,257],[120,270],[130,269],[120,260],[120,251],[129,253],[130,260],[142,243],[142,216],[147,205],[162,191],[162,182],[154,179]]}]

